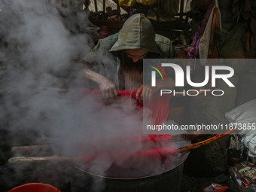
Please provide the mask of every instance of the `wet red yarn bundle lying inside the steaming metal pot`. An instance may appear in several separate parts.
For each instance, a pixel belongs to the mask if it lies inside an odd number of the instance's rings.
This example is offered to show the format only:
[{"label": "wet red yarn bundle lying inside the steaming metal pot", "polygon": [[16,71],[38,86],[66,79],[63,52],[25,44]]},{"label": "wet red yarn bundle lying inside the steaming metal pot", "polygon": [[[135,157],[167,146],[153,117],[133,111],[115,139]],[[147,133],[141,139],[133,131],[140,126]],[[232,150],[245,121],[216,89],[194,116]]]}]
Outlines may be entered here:
[{"label": "wet red yarn bundle lying inside the steaming metal pot", "polygon": [[107,162],[108,175],[117,176],[126,174],[126,169],[133,170],[133,174],[150,174],[169,168],[178,155],[177,148],[171,145],[170,135],[148,135],[88,141],[80,148],[82,151],[84,148],[97,151],[84,153],[84,165],[102,166]]}]

